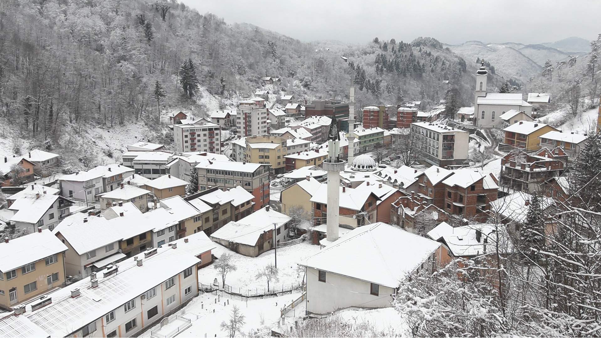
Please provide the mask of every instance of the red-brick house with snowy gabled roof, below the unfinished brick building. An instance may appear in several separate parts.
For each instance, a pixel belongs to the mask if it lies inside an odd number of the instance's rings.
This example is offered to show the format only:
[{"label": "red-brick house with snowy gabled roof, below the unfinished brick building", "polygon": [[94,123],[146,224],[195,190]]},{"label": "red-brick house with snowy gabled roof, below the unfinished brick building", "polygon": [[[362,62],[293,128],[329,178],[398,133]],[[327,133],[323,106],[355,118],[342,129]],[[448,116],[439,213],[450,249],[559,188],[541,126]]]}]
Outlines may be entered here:
[{"label": "red-brick house with snowy gabled roof, below the unfinished brick building", "polygon": [[483,174],[472,168],[455,170],[442,183],[445,185],[445,206],[449,214],[485,221],[490,202],[496,200],[498,181],[493,174]]}]

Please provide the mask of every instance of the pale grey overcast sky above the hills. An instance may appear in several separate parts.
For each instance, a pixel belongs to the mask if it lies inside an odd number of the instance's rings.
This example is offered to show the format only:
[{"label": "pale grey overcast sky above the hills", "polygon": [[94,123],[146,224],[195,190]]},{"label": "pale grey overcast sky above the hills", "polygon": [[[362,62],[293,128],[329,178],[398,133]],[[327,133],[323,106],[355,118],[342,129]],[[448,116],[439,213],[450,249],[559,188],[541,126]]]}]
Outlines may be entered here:
[{"label": "pale grey overcast sky above the hills", "polygon": [[599,0],[180,0],[227,23],[248,22],[302,41],[365,43],[374,37],[443,43],[593,40]]}]

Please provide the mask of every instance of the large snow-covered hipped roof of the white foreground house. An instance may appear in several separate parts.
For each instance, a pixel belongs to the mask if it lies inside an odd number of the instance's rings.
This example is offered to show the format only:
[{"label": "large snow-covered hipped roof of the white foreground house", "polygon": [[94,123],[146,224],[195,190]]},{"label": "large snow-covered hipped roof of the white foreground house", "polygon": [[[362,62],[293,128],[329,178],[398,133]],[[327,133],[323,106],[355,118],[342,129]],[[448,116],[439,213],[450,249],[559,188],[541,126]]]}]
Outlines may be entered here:
[{"label": "large snow-covered hipped roof of the white foreground house", "polygon": [[396,288],[440,246],[378,222],[354,229],[300,265]]}]

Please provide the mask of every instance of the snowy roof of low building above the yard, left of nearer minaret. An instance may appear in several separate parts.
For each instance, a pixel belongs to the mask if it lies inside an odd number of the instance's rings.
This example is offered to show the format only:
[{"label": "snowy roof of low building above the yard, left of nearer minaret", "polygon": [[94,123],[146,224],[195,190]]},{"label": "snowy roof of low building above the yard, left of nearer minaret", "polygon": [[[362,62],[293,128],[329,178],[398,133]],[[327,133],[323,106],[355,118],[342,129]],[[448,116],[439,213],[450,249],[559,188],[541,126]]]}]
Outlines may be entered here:
[{"label": "snowy roof of low building above the yard, left of nearer minaret", "polygon": [[259,237],[275,227],[282,226],[290,221],[290,217],[273,209],[257,210],[239,221],[230,221],[211,234],[212,238],[224,239],[239,244],[254,246]]}]

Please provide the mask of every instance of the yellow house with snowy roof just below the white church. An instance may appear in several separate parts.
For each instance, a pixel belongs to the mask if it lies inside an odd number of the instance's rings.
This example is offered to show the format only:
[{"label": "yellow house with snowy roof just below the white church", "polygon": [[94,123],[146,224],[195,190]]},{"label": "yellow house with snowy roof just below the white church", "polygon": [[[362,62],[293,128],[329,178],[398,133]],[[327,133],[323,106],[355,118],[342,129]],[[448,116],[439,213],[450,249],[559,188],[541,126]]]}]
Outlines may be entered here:
[{"label": "yellow house with snowy roof just below the white church", "polygon": [[531,121],[517,121],[507,128],[505,132],[505,140],[503,141],[507,147],[520,148],[525,150],[540,149],[540,136],[558,129],[549,126],[545,123],[535,123]]}]

